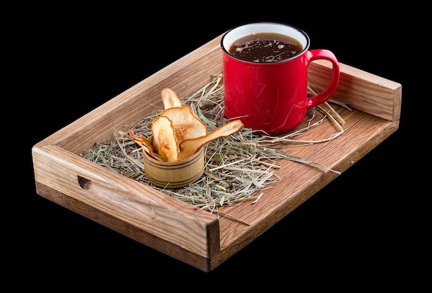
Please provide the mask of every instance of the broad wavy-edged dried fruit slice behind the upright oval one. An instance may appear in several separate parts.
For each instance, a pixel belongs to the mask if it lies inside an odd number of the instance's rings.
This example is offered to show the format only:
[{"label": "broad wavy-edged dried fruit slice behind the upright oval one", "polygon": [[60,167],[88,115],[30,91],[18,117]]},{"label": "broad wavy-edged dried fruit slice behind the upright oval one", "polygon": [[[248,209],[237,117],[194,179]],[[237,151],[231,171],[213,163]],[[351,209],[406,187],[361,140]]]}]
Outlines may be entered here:
[{"label": "broad wavy-edged dried fruit slice behind the upright oval one", "polygon": [[161,113],[161,116],[168,117],[173,122],[178,143],[207,134],[207,125],[193,113],[188,104],[168,108]]}]

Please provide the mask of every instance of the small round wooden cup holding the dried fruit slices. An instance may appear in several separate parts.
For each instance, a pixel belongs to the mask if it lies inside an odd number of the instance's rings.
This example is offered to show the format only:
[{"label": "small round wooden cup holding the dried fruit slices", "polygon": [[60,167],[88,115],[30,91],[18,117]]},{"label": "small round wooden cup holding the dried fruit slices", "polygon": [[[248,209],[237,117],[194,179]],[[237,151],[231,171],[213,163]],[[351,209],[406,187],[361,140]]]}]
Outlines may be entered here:
[{"label": "small round wooden cup holding the dried fruit slices", "polygon": [[144,153],[144,173],[157,187],[177,189],[197,181],[204,173],[204,148],[180,162],[161,162]]}]

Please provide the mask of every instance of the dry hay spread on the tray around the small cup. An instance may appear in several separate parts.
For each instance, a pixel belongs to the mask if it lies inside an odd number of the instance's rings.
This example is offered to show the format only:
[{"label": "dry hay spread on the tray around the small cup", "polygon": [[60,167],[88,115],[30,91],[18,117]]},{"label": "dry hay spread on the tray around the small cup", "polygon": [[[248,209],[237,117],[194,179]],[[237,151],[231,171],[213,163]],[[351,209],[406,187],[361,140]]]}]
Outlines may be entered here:
[{"label": "dry hay spread on the tray around the small cup", "polygon": [[[317,93],[312,86],[309,86],[308,92],[309,95]],[[228,122],[224,117],[223,102],[222,75],[212,77],[206,86],[184,99],[184,104],[189,104],[197,117],[207,124],[208,131]],[[312,109],[305,128],[295,129],[284,136],[255,135],[251,129],[244,128],[239,133],[206,144],[204,175],[197,182],[181,189],[155,187],[147,180],[144,173],[143,150],[124,131],[115,131],[108,142],[98,142],[81,156],[199,209],[218,214],[218,208],[223,205],[232,205],[244,200],[259,200],[262,192],[257,191],[271,188],[273,183],[281,179],[275,173],[279,169],[279,160],[293,160],[311,167],[328,169],[319,162],[308,162],[289,155],[286,149],[289,144],[302,147],[333,140],[344,132],[344,120],[333,110],[330,103],[348,108],[344,104],[329,100]],[[135,134],[146,138],[152,135],[151,122],[160,112],[161,110],[155,111],[133,126]],[[315,115],[317,112],[322,113],[322,117]],[[337,129],[331,137],[320,140],[295,139],[308,129],[319,126],[325,119],[331,120]],[[338,171],[328,170],[340,174]]]}]

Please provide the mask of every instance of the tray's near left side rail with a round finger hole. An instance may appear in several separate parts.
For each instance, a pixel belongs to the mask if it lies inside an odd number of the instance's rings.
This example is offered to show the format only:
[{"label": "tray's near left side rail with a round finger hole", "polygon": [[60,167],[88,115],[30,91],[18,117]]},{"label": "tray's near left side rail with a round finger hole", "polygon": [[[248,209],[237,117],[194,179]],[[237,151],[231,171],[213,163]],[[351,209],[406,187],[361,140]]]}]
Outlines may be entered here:
[{"label": "tray's near left side rail with a round finger hole", "polygon": [[[220,251],[217,216],[57,146],[32,148],[35,180],[199,256]],[[39,191],[38,191],[39,192]]]}]

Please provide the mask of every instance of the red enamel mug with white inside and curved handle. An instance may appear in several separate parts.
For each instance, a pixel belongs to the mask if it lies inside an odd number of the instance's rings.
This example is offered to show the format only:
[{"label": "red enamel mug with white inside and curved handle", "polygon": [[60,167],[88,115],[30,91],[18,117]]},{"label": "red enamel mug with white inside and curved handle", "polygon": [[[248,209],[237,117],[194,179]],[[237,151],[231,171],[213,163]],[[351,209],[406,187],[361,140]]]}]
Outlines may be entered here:
[{"label": "red enamel mug with white inside and curved handle", "polygon": [[[300,53],[276,62],[246,61],[230,53],[235,41],[261,32],[296,39],[301,44]],[[244,127],[259,134],[295,129],[308,109],[332,97],[339,83],[340,66],[335,55],[326,49],[310,50],[309,46],[304,31],[284,23],[246,23],[225,32],[221,40],[225,117],[239,118]],[[331,77],[326,88],[308,97],[308,66],[317,59],[331,62]]]}]

